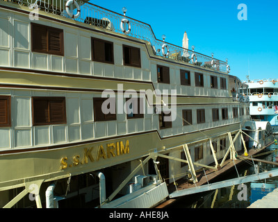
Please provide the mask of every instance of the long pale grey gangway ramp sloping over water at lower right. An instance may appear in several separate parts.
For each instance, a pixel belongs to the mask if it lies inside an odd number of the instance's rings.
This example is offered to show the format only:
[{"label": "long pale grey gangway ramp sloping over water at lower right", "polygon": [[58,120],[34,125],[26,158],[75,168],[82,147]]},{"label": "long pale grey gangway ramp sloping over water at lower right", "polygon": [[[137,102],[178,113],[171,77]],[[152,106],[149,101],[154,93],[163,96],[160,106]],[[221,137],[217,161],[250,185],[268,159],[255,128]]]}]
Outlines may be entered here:
[{"label": "long pale grey gangway ramp sloping over water at lower right", "polygon": [[179,196],[186,196],[189,194],[197,194],[197,193],[201,193],[204,191],[220,189],[223,187],[229,187],[229,186],[233,186],[233,185],[240,185],[245,182],[253,182],[256,180],[263,180],[263,179],[272,178],[272,177],[276,177],[276,176],[278,176],[278,169],[263,172],[263,173],[256,173],[256,174],[252,174],[250,176],[243,176],[243,177],[238,177],[238,178],[234,178],[234,179],[223,180],[220,182],[214,182],[214,183],[211,183],[208,185],[202,185],[199,187],[180,189],[180,190],[172,192],[172,194],[170,194],[169,196],[170,196],[170,198],[176,198]]}]

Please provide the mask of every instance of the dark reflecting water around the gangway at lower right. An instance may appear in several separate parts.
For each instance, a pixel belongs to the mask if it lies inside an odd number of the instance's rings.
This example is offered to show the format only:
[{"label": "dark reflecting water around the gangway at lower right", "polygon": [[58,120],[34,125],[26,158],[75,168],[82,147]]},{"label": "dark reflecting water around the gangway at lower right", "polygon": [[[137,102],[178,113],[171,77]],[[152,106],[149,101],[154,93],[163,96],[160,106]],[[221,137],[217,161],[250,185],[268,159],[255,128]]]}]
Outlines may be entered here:
[{"label": "dark reflecting water around the gangway at lower right", "polygon": [[[270,152],[269,155],[261,158],[264,160],[277,162],[278,161],[278,145],[272,145],[266,152]],[[278,169],[278,166],[265,164],[261,162],[255,162],[258,164],[260,172],[265,170]],[[240,176],[247,176],[254,174],[254,164],[252,161],[246,161],[245,165],[238,169]],[[238,175],[236,171],[229,173],[227,176],[223,176],[220,180],[228,180],[236,178]],[[247,187],[247,200],[240,197],[243,196],[243,189],[240,189],[238,185],[225,187],[222,189],[216,189],[213,191],[206,191],[202,194],[192,194],[179,198],[175,203],[170,205],[172,208],[246,208],[249,207],[256,200],[263,198],[263,196],[270,193],[273,189],[277,188],[278,178],[271,178],[267,180],[259,180],[256,182],[245,183]],[[245,189],[246,190],[246,189]],[[239,198],[238,198],[239,196]]]}]

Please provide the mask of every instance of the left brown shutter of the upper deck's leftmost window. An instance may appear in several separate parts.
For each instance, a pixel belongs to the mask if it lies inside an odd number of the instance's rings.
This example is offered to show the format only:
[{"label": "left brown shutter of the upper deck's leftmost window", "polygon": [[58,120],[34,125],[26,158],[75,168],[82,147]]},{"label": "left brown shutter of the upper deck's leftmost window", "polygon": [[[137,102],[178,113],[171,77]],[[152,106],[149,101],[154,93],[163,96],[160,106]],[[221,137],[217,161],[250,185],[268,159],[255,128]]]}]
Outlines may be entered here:
[{"label": "left brown shutter of the upper deck's leftmost window", "polygon": [[47,27],[32,26],[32,50],[47,52]]}]

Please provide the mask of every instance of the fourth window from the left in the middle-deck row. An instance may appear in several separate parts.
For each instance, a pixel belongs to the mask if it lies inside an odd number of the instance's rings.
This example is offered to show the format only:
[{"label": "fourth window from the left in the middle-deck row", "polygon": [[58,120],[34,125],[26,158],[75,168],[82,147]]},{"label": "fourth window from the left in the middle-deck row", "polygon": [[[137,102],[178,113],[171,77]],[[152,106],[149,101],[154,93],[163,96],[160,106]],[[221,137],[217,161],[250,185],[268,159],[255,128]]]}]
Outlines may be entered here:
[{"label": "fourth window from the left in the middle-deck row", "polygon": [[127,119],[144,118],[144,105],[142,98],[126,99]]}]

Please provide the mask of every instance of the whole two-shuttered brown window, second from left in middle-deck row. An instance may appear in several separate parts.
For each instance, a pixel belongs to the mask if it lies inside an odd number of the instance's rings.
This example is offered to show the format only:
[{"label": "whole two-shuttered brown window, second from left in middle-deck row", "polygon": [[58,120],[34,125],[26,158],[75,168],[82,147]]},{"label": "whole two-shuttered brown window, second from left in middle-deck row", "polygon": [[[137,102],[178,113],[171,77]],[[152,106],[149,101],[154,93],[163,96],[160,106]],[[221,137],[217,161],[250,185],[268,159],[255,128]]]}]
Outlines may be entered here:
[{"label": "whole two-shuttered brown window, second from left in middle-deck row", "polygon": [[33,126],[67,123],[65,97],[33,97]]}]

